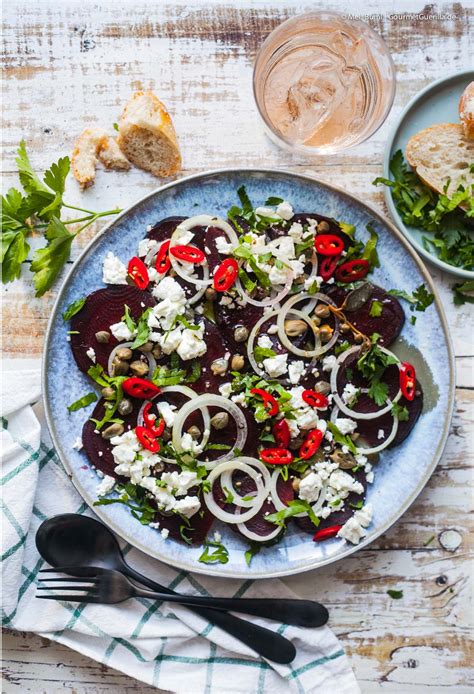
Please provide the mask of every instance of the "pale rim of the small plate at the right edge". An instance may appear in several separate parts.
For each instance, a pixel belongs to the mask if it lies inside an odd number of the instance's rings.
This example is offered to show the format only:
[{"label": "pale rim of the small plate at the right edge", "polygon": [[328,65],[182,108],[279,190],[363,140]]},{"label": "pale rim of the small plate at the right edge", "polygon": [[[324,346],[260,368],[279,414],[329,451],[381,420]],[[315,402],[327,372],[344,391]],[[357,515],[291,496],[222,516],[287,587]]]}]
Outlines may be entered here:
[{"label": "pale rim of the small plate at the right edge", "polygon": [[[461,72],[455,72],[447,77],[441,77],[434,82],[430,82],[429,84],[426,85],[426,87],[423,87],[419,92],[417,92],[411,99],[410,101],[406,104],[406,106],[403,108],[401,113],[399,114],[397,120],[395,123],[392,125],[391,130],[389,131],[388,137],[387,137],[387,142],[385,144],[385,151],[384,151],[384,157],[383,157],[383,176],[385,178],[391,178],[390,175],[390,155],[392,152],[393,148],[393,143],[394,140],[398,134],[398,131],[400,130],[400,127],[409,114],[410,111],[413,110],[413,108],[416,108],[416,105],[418,102],[422,101],[424,97],[429,94],[431,91],[435,91],[438,89],[440,86],[444,85],[445,83],[449,83],[455,79],[463,79],[463,78],[469,78],[469,76],[472,77],[474,80],[474,70],[466,68],[464,70],[461,70]],[[436,124],[434,124],[436,125]],[[429,251],[425,250],[423,248],[422,244],[419,243],[416,239],[414,239],[410,232],[408,231],[408,228],[405,226],[405,223],[402,221],[400,215],[398,214],[397,208],[395,207],[395,203],[393,202],[392,199],[392,194],[391,194],[391,189],[386,188],[384,190],[384,198],[385,198],[385,204],[388,207],[390,216],[392,218],[393,223],[397,226],[398,230],[405,236],[405,238],[408,240],[408,242],[415,248],[417,253],[422,255],[429,263],[432,263],[435,265],[437,268],[440,270],[444,270],[445,272],[449,272],[450,275],[454,275],[455,277],[460,277],[461,279],[464,280],[472,280],[474,279],[474,270],[464,270],[463,268],[457,268],[454,265],[450,265],[449,263],[445,263],[444,260],[440,260],[437,258],[435,255],[430,253]]]}]

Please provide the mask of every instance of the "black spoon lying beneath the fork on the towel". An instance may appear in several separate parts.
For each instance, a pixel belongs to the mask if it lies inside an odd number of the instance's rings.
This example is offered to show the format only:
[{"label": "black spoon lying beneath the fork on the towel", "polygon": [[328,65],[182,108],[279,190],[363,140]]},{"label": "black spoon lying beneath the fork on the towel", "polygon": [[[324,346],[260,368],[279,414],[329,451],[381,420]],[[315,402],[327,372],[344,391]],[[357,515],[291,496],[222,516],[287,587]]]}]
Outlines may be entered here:
[{"label": "black spoon lying beneath the fork on the towel", "polygon": [[[100,566],[114,569],[152,590],[176,595],[169,588],[132,569],[126,563],[115,536],[105,525],[88,516],[66,513],[44,521],[36,533],[36,547],[51,566]],[[323,606],[321,608],[322,625],[326,623],[328,613]],[[190,609],[269,660],[290,663],[296,655],[291,641],[269,629],[212,608]]]}]

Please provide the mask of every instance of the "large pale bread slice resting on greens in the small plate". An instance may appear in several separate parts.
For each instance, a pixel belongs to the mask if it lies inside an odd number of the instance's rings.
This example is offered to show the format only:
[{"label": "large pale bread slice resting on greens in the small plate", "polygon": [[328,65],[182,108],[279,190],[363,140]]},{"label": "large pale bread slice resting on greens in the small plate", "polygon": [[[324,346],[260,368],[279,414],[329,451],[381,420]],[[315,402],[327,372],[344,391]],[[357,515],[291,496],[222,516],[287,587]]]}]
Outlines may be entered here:
[{"label": "large pale bread slice resting on greens in the small plate", "polygon": [[459,184],[473,185],[474,141],[468,140],[461,125],[441,123],[408,140],[406,158],[421,180],[438,193],[452,195]]}]

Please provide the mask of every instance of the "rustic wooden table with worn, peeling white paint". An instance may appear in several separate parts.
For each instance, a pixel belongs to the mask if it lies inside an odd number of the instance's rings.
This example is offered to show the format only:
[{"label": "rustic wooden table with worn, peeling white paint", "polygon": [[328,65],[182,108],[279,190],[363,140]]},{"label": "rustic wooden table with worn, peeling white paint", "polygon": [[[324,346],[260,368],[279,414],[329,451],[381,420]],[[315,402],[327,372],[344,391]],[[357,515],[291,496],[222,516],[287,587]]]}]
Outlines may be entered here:
[{"label": "rustic wooden table with worn, peeling white paint", "polygon": [[[9,0],[3,8],[4,187],[16,183],[14,156],[22,137],[42,171],[71,152],[84,126],[112,127],[132,90],[152,88],[173,114],[184,174],[262,163],[311,171],[384,209],[371,181],[380,174],[390,125],[426,84],[472,64],[474,5],[472,0],[437,6],[419,0],[352,0],[350,11],[369,15],[393,55],[395,104],[369,142],[347,155],[309,163],[267,141],[256,118],[251,78],[255,52],[269,31],[282,19],[316,7],[323,3]],[[344,11],[349,4],[333,1],[324,7]],[[430,13],[439,16],[426,18]],[[95,187],[83,195],[71,182],[68,197],[91,209],[126,207],[158,184],[136,169],[101,171]],[[96,231],[88,229],[78,239],[74,256]],[[345,561],[286,579],[301,595],[317,596],[328,605],[331,625],[350,654],[364,694],[472,691],[472,312],[469,306],[453,306],[453,278],[438,271],[433,276],[457,364],[456,414],[443,459],[389,533]],[[40,359],[54,294],[35,299],[28,272],[9,285],[4,294],[6,356]],[[456,549],[447,542],[453,535],[443,534],[447,529],[457,533]],[[403,589],[403,599],[391,600],[389,588]],[[3,648],[2,691],[8,694],[152,691],[36,635],[7,632]]]}]

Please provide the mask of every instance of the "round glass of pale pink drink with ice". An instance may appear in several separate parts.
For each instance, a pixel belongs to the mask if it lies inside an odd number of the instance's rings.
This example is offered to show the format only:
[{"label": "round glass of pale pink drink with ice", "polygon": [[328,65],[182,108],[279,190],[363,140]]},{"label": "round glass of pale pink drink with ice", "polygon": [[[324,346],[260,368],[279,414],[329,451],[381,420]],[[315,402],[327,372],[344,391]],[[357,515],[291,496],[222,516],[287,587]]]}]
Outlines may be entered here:
[{"label": "round glass of pale pink drink with ice", "polygon": [[334,154],[370,137],[395,96],[383,40],[338,12],[292,17],[263,42],[253,75],[269,136],[303,154]]}]

